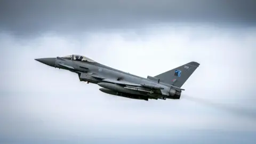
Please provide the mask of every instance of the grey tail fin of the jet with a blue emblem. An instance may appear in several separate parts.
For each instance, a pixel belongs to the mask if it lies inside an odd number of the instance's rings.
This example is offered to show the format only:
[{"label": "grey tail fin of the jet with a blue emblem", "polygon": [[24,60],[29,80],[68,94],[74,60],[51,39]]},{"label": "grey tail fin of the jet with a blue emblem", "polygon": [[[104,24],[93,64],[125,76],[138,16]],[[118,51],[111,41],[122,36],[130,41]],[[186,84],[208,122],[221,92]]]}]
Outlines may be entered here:
[{"label": "grey tail fin of the jet with a blue emblem", "polygon": [[155,77],[159,78],[160,81],[162,81],[163,83],[181,87],[187,81],[187,79],[194,73],[194,71],[199,65],[200,64],[197,62],[191,61],[185,65],[166,71],[165,73],[159,74]]}]

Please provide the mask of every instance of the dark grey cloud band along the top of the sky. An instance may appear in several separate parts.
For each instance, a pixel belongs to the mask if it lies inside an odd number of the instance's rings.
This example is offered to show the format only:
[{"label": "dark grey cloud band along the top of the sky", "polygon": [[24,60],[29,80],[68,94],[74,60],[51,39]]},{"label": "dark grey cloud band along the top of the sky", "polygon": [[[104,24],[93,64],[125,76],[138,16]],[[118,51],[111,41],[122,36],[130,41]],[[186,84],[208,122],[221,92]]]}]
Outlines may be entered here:
[{"label": "dark grey cloud band along the top of the sky", "polygon": [[159,22],[255,26],[253,0],[1,1],[0,27],[16,34],[141,28]]}]

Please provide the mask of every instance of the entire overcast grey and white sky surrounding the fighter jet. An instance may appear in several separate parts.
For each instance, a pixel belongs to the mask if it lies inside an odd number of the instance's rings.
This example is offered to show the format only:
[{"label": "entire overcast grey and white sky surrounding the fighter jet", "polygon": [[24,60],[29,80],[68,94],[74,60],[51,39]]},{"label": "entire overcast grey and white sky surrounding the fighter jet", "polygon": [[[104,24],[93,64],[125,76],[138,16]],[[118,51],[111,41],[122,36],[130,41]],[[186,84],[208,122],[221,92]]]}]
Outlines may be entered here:
[{"label": "entire overcast grey and white sky surrounding the fighter jet", "polygon": [[[1,1],[0,143],[254,143],[255,1]],[[142,77],[200,67],[180,100],[99,91],[35,58]]]}]

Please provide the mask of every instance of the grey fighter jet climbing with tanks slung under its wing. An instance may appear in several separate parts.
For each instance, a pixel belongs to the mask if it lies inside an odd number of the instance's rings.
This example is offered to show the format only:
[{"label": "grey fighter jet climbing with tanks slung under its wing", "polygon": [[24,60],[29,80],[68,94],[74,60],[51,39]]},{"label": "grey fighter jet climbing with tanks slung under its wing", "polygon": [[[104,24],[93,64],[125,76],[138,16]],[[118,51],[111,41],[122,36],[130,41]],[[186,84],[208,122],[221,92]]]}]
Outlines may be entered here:
[{"label": "grey fighter jet climbing with tanks slung under its wing", "polygon": [[194,73],[199,63],[191,61],[157,76],[140,76],[125,73],[82,55],[35,59],[45,65],[69,70],[78,74],[79,80],[98,84],[101,92],[120,97],[148,99],[180,99],[181,86]]}]

